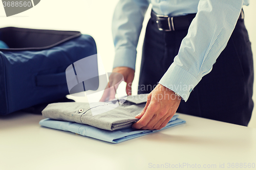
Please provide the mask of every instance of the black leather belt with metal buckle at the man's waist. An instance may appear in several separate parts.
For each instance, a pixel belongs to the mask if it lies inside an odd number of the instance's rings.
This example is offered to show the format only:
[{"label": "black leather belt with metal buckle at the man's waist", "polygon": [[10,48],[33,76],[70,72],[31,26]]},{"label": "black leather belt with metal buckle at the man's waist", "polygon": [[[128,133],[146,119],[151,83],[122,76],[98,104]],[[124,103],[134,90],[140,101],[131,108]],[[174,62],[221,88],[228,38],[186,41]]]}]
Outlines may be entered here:
[{"label": "black leather belt with metal buckle at the man's waist", "polygon": [[[151,11],[151,19],[156,22],[158,30],[160,31],[187,30],[195,16],[196,14],[188,14],[184,16],[169,17],[168,15],[158,15],[153,10]],[[238,19],[244,19],[243,10]]]}]

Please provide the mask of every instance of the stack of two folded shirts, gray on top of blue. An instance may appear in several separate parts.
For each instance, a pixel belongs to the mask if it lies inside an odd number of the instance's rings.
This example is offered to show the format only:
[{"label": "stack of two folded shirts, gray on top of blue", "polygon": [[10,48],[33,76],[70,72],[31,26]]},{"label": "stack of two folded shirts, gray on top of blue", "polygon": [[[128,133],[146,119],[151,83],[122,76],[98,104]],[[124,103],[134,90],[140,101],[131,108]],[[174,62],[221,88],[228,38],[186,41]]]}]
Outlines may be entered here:
[{"label": "stack of two folded shirts, gray on top of blue", "polygon": [[[159,130],[136,130],[132,124],[139,119],[135,118],[146,103],[147,94],[125,97],[120,105],[119,100],[96,103],[53,103],[43,111],[39,124],[44,127],[70,131],[103,141],[119,143],[125,140],[140,137]],[[106,110],[102,113],[102,110]],[[95,114],[99,112],[100,114]],[[174,115],[169,123],[162,128],[170,128],[184,124],[185,120]]]}]

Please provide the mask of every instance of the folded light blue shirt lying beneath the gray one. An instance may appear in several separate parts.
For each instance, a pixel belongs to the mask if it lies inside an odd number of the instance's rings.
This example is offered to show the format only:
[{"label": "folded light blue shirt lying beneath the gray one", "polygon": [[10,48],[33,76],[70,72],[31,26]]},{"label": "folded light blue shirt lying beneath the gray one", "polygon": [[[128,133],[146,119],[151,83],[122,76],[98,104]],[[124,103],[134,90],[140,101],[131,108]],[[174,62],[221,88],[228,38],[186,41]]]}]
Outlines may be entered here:
[{"label": "folded light blue shirt lying beneath the gray one", "polygon": [[[162,128],[170,128],[180,124],[184,124],[185,120],[178,118],[179,115],[174,115],[172,119],[170,119],[169,123]],[[154,132],[158,132],[160,130],[136,130],[133,128],[121,129],[121,130],[103,130],[99,128],[92,127],[90,125],[83,125],[73,122],[65,122],[60,120],[54,120],[50,118],[40,120],[39,124],[44,127],[58,129],[63,131],[69,131],[73,133],[77,133],[83,136],[92,137],[95,139],[111,142],[111,143],[120,143],[125,140],[133,139],[136,137],[144,136],[147,134],[151,134]]]}]

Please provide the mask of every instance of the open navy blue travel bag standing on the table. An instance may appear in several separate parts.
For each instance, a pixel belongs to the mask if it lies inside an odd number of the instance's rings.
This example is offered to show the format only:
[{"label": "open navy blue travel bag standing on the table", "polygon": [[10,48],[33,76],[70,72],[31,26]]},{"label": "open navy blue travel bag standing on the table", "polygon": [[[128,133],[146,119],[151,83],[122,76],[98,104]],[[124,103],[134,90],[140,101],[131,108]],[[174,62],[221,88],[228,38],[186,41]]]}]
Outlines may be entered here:
[{"label": "open navy blue travel bag standing on the table", "polygon": [[0,115],[65,98],[66,68],[97,53],[94,39],[77,31],[7,27],[0,40],[9,47],[0,48]]}]

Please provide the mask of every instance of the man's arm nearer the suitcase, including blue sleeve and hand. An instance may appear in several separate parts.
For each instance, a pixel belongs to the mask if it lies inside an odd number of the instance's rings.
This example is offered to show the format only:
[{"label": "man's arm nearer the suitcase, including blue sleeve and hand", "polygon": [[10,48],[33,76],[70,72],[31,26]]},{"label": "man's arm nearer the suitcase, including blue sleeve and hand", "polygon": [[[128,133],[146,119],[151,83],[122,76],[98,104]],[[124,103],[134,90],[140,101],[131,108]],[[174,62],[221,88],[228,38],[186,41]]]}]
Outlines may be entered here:
[{"label": "man's arm nearer the suitcase, including blue sleeve and hand", "polygon": [[[134,79],[137,44],[149,3],[147,0],[120,0],[116,6],[112,33],[115,45],[115,60],[113,72],[123,75],[126,82],[126,93],[132,94],[132,82]],[[112,74],[106,88],[116,85],[116,74]],[[101,102],[115,98],[116,91],[105,90]]]}]

